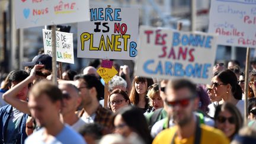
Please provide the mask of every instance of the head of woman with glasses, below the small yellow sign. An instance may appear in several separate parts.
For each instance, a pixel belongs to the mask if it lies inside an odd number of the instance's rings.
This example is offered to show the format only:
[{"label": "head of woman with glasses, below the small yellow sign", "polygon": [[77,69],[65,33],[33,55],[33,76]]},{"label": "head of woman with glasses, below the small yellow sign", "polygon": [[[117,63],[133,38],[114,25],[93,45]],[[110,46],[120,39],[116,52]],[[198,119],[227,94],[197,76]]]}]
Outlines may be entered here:
[{"label": "head of woman with glasses, below the small yellow sign", "polygon": [[116,113],[121,107],[130,105],[129,96],[121,89],[115,89],[109,95],[108,106],[113,113]]}]

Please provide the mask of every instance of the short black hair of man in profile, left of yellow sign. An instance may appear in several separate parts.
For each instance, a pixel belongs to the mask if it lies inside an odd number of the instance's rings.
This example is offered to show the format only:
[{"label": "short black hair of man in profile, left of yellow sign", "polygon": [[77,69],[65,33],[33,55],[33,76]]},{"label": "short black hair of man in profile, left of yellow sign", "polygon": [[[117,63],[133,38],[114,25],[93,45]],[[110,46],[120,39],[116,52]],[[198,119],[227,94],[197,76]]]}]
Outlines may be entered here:
[{"label": "short black hair of man in profile, left of yellow sign", "polygon": [[95,75],[76,75],[74,80],[76,81],[78,79],[84,79],[87,88],[95,87],[99,101],[104,99],[104,86]]}]

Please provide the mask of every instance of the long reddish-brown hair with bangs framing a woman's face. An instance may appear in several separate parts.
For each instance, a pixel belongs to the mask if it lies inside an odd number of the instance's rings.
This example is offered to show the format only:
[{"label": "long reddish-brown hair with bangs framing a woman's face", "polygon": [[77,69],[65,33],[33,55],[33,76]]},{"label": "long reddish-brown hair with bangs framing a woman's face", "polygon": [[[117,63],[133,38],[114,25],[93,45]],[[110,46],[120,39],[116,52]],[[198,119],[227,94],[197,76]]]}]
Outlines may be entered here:
[{"label": "long reddish-brown hair with bangs framing a woman's face", "polygon": [[[137,105],[137,104],[139,104],[139,94],[136,91],[135,82],[147,82],[148,85],[146,85],[146,88],[148,88],[149,85],[153,84],[153,79],[152,78],[144,78],[141,76],[135,76],[135,78],[133,79],[132,90],[130,92],[129,98],[130,98],[130,102],[132,104]],[[146,103],[148,104],[148,98],[146,98]]]}]

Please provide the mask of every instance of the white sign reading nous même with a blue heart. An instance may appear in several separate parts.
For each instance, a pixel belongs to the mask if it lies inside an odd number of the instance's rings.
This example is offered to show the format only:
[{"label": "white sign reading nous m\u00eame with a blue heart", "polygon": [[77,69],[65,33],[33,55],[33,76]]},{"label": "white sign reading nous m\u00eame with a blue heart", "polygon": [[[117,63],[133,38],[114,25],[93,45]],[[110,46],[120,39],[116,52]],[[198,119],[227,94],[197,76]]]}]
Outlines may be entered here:
[{"label": "white sign reading nous m\u00eame with a blue heart", "polygon": [[89,21],[88,0],[15,0],[17,28]]}]

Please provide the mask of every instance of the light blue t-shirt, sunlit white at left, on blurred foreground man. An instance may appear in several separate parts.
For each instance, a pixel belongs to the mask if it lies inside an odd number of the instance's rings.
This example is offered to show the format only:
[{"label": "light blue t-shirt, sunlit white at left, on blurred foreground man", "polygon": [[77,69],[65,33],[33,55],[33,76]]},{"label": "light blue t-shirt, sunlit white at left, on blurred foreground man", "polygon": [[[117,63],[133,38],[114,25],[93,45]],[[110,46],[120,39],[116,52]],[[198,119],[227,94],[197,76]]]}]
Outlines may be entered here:
[{"label": "light blue t-shirt, sunlit white at left, on blurred foreground man", "polygon": [[[30,143],[46,143],[44,142],[43,139],[43,132],[44,132],[44,128],[41,128],[39,131],[37,131],[36,133],[33,133],[33,135],[30,135],[27,137],[27,139],[25,139],[25,144],[30,144]],[[55,137],[53,137],[53,139],[47,141],[47,144],[50,143],[56,143],[56,144],[73,144],[73,143],[78,143],[78,144],[84,144],[86,143],[85,140],[82,138],[81,135],[79,135],[78,133],[75,132],[75,130],[73,130],[71,127],[65,125],[64,128],[62,129],[62,131]]]}]

